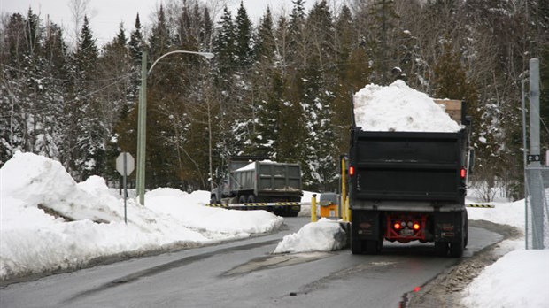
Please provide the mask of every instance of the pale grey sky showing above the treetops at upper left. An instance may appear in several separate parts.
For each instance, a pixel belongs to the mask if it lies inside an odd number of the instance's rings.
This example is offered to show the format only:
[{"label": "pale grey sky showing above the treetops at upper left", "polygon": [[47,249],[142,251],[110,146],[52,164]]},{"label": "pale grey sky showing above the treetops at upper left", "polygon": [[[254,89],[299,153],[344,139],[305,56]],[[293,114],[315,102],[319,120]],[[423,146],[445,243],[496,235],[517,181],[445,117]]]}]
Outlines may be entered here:
[{"label": "pale grey sky showing above the treetops at upper left", "polygon": [[[74,21],[73,14],[69,4],[73,0],[0,0],[0,12],[14,13],[19,12],[27,15],[28,8],[40,15],[43,20],[47,16],[52,22],[62,26],[67,35],[67,42],[73,42]],[[236,14],[236,9],[240,6],[240,0],[206,0],[206,3],[217,3],[219,12],[222,10],[222,4],[227,3],[229,10]],[[103,45],[105,42],[112,41],[112,38],[118,33],[120,21],[124,22],[124,27],[131,31],[135,25],[135,16],[139,13],[141,23],[145,26],[151,25],[151,13],[156,12],[159,4],[166,4],[168,1],[160,0],[89,0],[89,19],[90,26],[94,36],[97,38],[97,44]],[[259,18],[267,9],[267,5],[274,14],[290,12],[292,8],[291,0],[243,0],[244,7],[248,12],[251,22],[257,24]],[[305,7],[310,8],[314,4],[313,0],[305,1]]]}]

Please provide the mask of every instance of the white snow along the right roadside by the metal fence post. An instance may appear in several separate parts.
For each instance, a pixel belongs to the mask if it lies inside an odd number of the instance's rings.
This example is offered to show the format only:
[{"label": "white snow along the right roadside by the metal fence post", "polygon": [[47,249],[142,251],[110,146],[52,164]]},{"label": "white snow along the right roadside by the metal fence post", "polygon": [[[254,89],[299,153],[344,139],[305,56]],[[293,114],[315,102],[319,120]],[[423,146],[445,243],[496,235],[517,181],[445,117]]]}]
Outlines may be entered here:
[{"label": "white snow along the right roadside by the metal fence post", "polygon": [[[472,201],[472,200],[471,200]],[[495,208],[469,208],[468,219],[516,227],[519,239],[499,243],[502,255],[461,292],[466,307],[541,307],[549,303],[549,250],[525,250],[524,200],[495,202]]]}]

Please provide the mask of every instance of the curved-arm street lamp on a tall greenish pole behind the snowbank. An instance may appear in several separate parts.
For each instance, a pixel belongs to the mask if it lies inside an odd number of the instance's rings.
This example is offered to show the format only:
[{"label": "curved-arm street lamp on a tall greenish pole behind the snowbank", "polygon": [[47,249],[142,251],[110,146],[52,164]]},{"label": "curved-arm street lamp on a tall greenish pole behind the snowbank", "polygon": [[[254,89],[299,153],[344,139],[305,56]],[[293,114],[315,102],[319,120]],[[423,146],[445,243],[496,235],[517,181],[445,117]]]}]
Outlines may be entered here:
[{"label": "curved-arm street lamp on a tall greenish pole behind the snowbank", "polygon": [[174,53],[189,53],[207,58],[213,58],[211,52],[197,52],[188,50],[170,51],[158,58],[152,63],[151,68],[147,71],[147,51],[143,50],[143,58],[141,63],[141,89],[139,91],[139,106],[137,115],[137,174],[135,179],[135,190],[139,196],[139,203],[145,204],[145,144],[147,132],[147,76],[151,73],[152,68],[160,59]]}]

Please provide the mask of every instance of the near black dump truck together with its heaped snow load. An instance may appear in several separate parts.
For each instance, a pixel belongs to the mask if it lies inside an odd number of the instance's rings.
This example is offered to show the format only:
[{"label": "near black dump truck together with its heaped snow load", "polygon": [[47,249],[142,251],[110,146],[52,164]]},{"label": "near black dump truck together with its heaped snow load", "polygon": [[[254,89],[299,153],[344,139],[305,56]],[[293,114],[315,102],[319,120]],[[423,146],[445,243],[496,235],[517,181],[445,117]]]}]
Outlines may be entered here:
[{"label": "near black dump truck together with its heaped snow load", "polygon": [[352,253],[379,253],[383,241],[420,241],[435,243],[440,255],[460,257],[468,242],[472,166],[463,104],[435,102],[395,81],[361,89],[354,106]]}]

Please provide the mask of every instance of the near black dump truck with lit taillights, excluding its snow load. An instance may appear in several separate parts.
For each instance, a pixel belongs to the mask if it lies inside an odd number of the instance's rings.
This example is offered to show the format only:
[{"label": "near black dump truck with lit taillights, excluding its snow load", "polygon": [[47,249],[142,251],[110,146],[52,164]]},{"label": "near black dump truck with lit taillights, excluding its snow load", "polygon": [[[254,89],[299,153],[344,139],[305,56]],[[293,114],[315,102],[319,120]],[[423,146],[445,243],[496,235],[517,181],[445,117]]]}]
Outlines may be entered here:
[{"label": "near black dump truck with lit taillights, excluding its snow load", "polygon": [[436,100],[460,124],[455,132],[364,131],[352,127],[351,250],[376,254],[383,241],[434,243],[460,258],[468,244],[465,206],[470,119],[460,101]]}]

